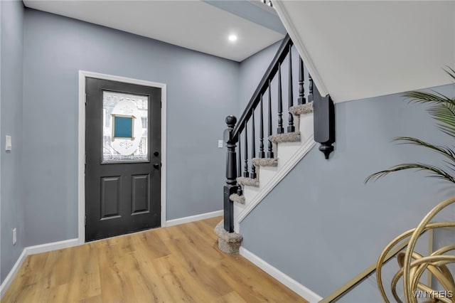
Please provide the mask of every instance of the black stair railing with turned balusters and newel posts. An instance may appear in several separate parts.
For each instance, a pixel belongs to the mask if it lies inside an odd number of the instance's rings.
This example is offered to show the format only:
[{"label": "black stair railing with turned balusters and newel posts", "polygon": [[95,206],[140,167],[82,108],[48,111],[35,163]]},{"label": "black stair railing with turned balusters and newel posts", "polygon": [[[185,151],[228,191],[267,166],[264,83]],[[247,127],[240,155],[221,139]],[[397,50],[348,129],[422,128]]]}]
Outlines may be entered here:
[{"label": "black stair railing with turned balusters and newel posts", "polygon": [[[292,117],[291,113],[289,113],[289,109],[294,105],[294,92],[293,92],[293,80],[292,80],[292,48],[294,43],[287,35],[281,45],[277,53],[274,55],[272,63],[270,63],[269,67],[267,68],[264,76],[262,77],[259,85],[257,86],[255,92],[253,93],[250,102],[248,102],[245,111],[240,116],[240,119],[234,116],[228,116],[226,118],[226,124],[228,124],[228,128],[225,129],[224,133],[224,140],[226,146],[228,147],[228,152],[226,156],[226,184],[224,186],[224,228],[229,233],[234,231],[234,218],[233,218],[233,203],[230,200],[230,195],[232,193],[237,193],[238,195],[242,195],[242,188],[237,184],[237,177],[244,176],[246,178],[256,179],[256,167],[252,163],[252,159],[256,156],[256,144],[259,144],[259,158],[265,158],[266,153],[264,151],[264,107],[263,103],[265,102],[267,105],[267,134],[268,137],[272,136],[272,116],[274,115],[272,112],[272,95],[277,96],[277,115],[278,115],[278,125],[277,125],[277,134],[284,133],[284,126],[283,126],[283,104],[282,104],[282,63],[284,60],[288,58],[288,66],[289,66],[289,74],[285,77],[285,80],[288,81],[288,110],[285,110],[288,115],[288,127],[287,132],[295,132],[296,129],[294,127],[294,117]],[[299,58],[299,97],[297,98],[297,104],[305,104],[306,100],[311,102],[312,100],[328,100],[331,102],[330,97],[321,97],[317,90],[317,87],[314,85],[311,76],[309,75],[309,95],[305,97],[305,90],[304,90],[304,62],[301,58]],[[274,80],[276,79],[276,80]],[[272,80],[273,83],[276,84],[276,87],[272,87]],[[273,92],[272,92],[273,90]],[[267,100],[264,100],[265,94],[267,93]],[[315,94],[315,95],[314,95]],[[333,105],[333,104],[332,104]],[[330,106],[327,106],[326,103],[322,103],[321,108],[319,111],[322,114],[326,114],[330,112]],[[316,104],[314,105],[316,109]],[[255,126],[255,110],[258,110],[259,116],[259,142],[256,142],[256,126]],[[332,115],[333,116],[333,115]],[[320,118],[321,119],[321,118]],[[315,120],[316,120],[316,110],[315,110]],[[321,119],[321,121],[324,119]],[[251,125],[251,136],[248,136],[248,127],[247,124],[250,123]],[[326,122],[324,122],[326,123]],[[327,127],[326,127],[327,128]],[[327,129],[331,129],[328,127]],[[323,129],[319,132],[319,137],[323,141],[325,145],[321,145],[319,149],[324,151],[324,153],[330,153],[330,149],[333,150],[331,143],[334,142],[333,137],[328,136],[326,134],[326,130]],[[333,133],[334,134],[334,133]],[[243,163],[244,169],[242,174],[242,159],[241,159],[241,152],[242,148],[240,147],[240,137],[244,139],[243,142]],[[274,151],[273,151],[273,144],[267,137],[267,158],[274,158]],[[316,138],[316,122],[315,122],[315,138]],[[316,140],[318,141],[318,140]],[[320,142],[320,141],[318,141]],[[236,147],[238,144],[238,158],[236,154]],[[251,151],[251,159],[249,159],[248,150],[250,148]],[[330,151],[329,151],[330,150]],[[328,154],[326,155],[328,157]],[[251,165],[249,163],[251,162]],[[251,168],[251,173],[250,173]]]}]

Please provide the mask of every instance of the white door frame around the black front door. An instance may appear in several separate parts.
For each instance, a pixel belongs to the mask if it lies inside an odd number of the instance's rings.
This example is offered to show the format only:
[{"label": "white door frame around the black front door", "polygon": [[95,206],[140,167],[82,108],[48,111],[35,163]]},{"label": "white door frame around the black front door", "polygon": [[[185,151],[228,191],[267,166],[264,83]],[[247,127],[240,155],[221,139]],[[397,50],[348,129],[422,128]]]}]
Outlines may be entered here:
[{"label": "white door frame around the black front door", "polygon": [[161,88],[161,227],[166,225],[166,84],[79,70],[79,135],[77,156],[77,230],[85,243],[85,78],[97,78]]}]

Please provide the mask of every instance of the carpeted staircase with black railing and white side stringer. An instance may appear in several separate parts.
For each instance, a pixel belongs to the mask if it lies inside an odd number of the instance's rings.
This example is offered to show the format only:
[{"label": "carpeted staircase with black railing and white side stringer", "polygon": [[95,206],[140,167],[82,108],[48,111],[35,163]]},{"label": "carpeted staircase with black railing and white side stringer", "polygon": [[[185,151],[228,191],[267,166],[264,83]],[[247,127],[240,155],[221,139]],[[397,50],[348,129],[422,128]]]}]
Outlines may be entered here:
[{"label": "carpeted staircase with black railing and white side stringer", "polygon": [[234,116],[226,118],[224,218],[215,228],[218,248],[226,253],[239,252],[242,220],[316,142],[326,159],[333,151],[333,102],[319,94],[301,57],[292,58],[293,45],[289,36],[283,39],[238,122]]}]

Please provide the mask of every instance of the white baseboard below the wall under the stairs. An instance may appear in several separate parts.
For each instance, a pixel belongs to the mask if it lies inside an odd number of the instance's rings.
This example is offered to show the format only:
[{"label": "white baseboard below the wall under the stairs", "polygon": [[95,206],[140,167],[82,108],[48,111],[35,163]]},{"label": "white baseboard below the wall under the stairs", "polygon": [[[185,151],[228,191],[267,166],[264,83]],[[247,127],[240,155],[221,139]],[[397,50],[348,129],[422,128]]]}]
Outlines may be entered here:
[{"label": "white baseboard below the wall under the stairs", "polygon": [[307,301],[316,303],[323,299],[323,297],[319,296],[319,294],[316,294],[316,292],[311,291],[311,289],[304,287],[304,285],[301,285],[299,282],[292,279],[284,272],[279,271],[276,267],[273,267],[269,263],[265,262],[254,253],[250,252],[250,250],[240,247],[240,255],[255,264],[261,270],[264,270],[264,272],[267,272],[267,274],[271,275],[279,282],[282,282],[283,285],[287,286],[289,289],[291,289],[296,294],[299,294],[300,297],[306,299]]}]

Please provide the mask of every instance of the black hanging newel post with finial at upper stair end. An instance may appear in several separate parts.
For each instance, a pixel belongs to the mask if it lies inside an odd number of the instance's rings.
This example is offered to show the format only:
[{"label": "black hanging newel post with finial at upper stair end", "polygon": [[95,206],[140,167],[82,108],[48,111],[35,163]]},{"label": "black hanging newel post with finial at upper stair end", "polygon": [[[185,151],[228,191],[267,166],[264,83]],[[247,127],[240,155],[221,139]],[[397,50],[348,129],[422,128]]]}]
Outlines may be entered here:
[{"label": "black hanging newel post with finial at upper stair end", "polygon": [[335,105],[330,95],[322,97],[316,85],[313,91],[314,141],[320,143],[319,150],[326,159],[333,151],[335,142]]}]

